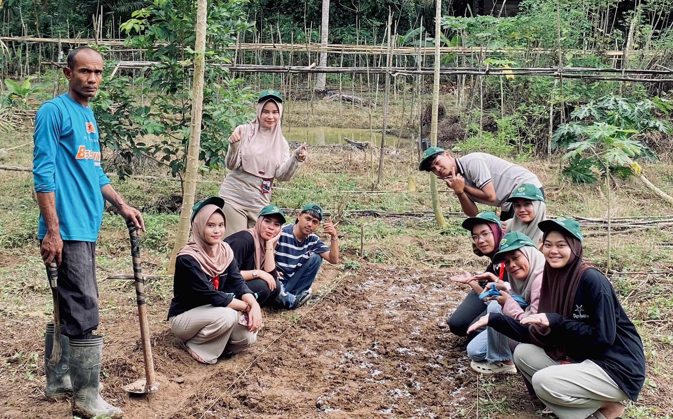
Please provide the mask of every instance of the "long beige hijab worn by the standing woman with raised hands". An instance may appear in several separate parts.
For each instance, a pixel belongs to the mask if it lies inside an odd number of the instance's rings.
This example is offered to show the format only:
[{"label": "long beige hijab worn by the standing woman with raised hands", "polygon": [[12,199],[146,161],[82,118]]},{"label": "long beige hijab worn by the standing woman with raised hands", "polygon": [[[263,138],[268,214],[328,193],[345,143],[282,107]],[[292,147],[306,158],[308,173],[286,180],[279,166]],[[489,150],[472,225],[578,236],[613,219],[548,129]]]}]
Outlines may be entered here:
[{"label": "long beige hijab worn by the standing woman with raised hands", "polygon": [[243,126],[241,139],[241,168],[244,172],[259,178],[275,178],[276,171],[285,159],[287,141],[283,137],[281,121],[273,128],[262,125],[262,108],[273,101],[278,106],[279,116],[283,118],[283,104],[267,99],[257,104],[257,116]]}]

